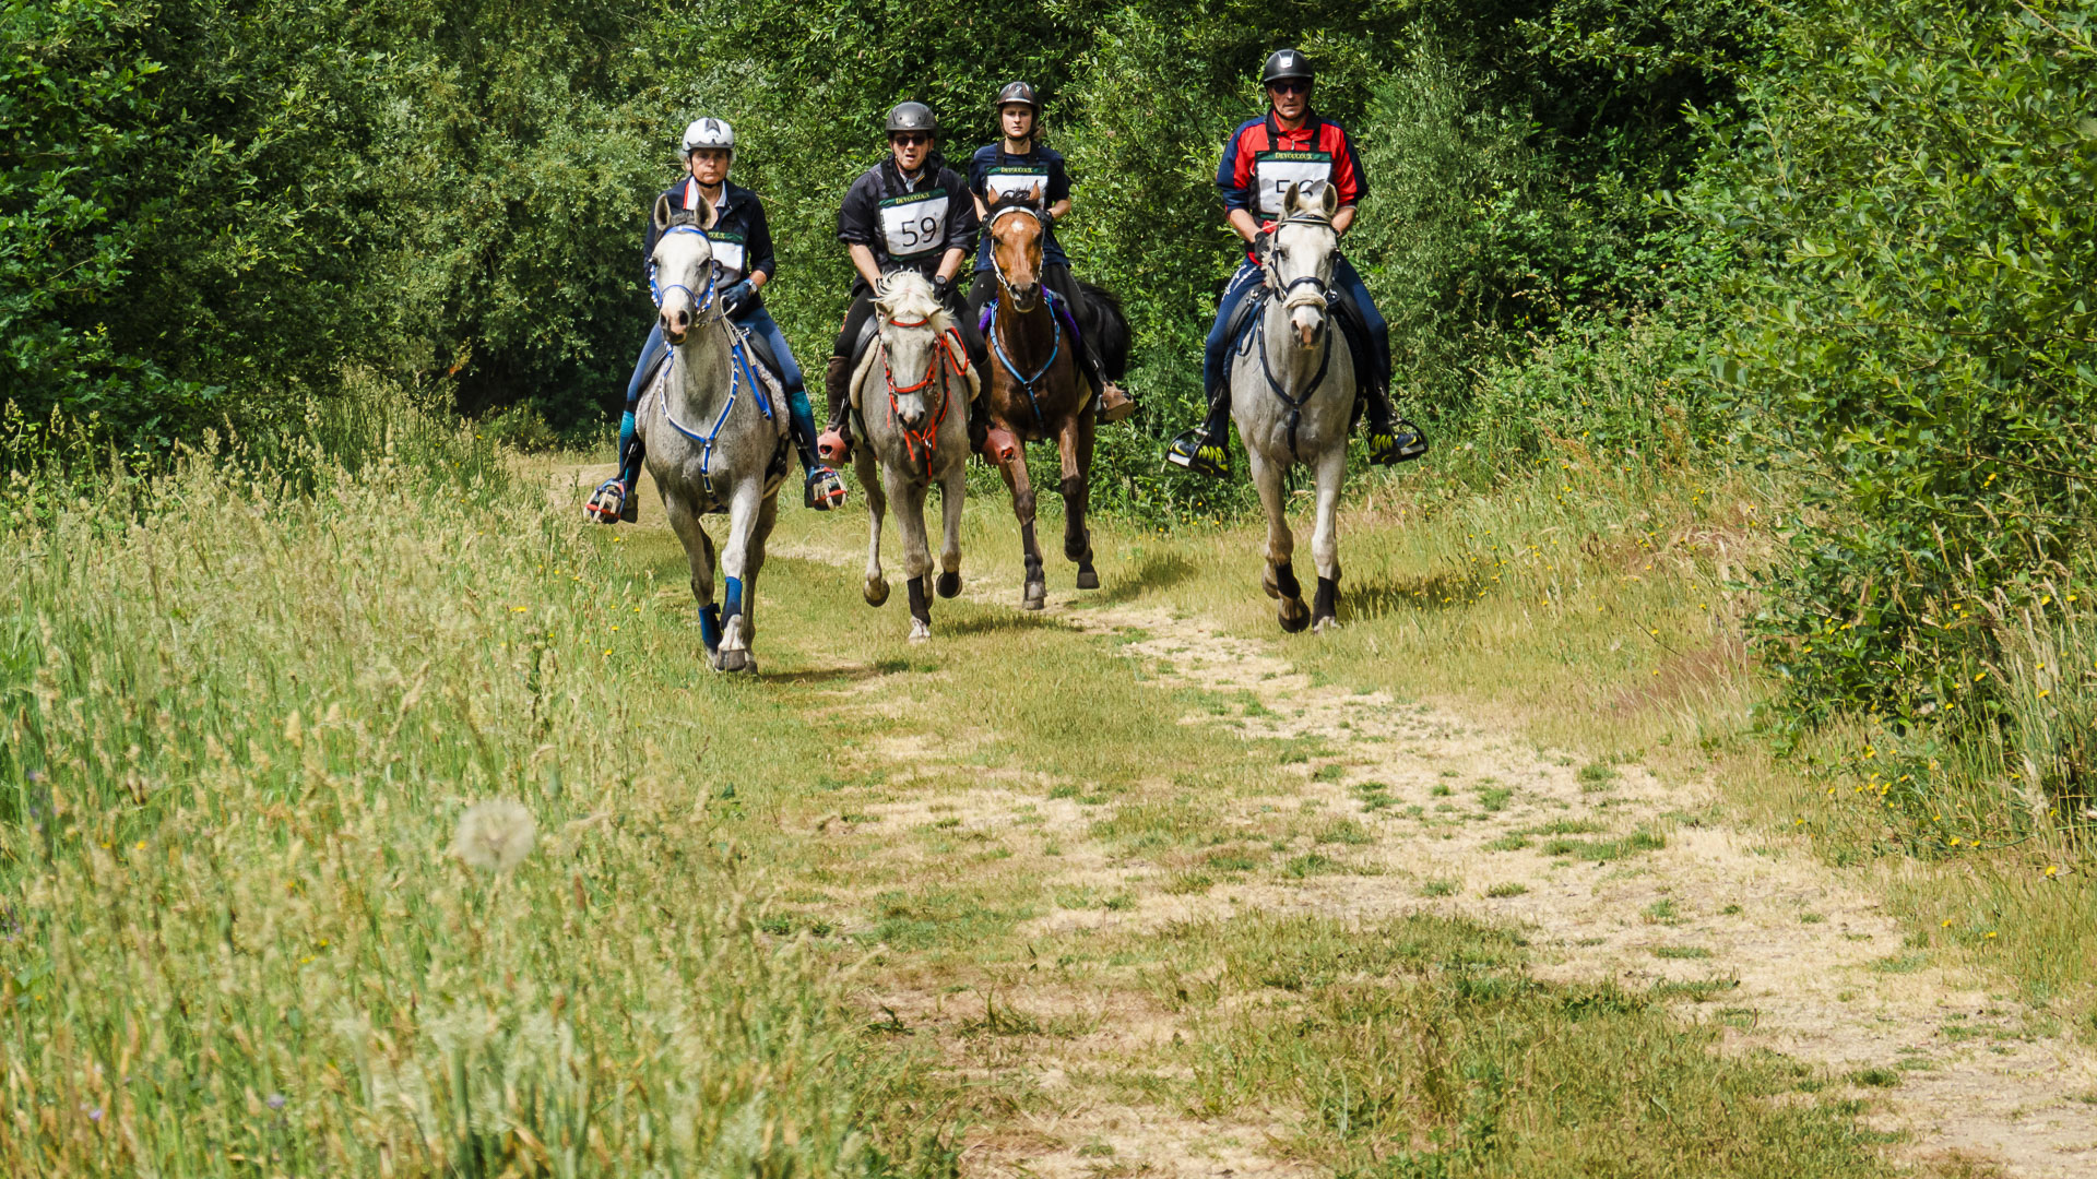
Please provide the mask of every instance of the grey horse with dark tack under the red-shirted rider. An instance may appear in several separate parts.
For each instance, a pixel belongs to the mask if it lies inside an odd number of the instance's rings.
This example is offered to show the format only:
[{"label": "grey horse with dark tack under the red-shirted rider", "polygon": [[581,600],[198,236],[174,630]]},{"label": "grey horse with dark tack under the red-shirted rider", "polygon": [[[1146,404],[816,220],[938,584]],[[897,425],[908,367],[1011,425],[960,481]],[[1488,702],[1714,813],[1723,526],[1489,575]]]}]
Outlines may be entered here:
[{"label": "grey horse with dark tack under the red-shirted rider", "polygon": [[[1269,239],[1262,266],[1260,319],[1237,344],[1231,363],[1231,417],[1246,443],[1252,485],[1267,508],[1267,573],[1260,587],[1281,602],[1281,629],[1319,631],[1336,625],[1340,606],[1340,535],[1336,514],[1346,483],[1346,430],[1355,409],[1355,361],[1327,313],[1327,283],[1340,235],[1332,214],[1340,195],[1332,185],[1290,185],[1281,220]],[[1304,608],[1302,585],[1290,556],[1296,537],[1283,512],[1283,480],[1296,464],[1317,478],[1317,527],[1311,560],[1317,596]]]}]

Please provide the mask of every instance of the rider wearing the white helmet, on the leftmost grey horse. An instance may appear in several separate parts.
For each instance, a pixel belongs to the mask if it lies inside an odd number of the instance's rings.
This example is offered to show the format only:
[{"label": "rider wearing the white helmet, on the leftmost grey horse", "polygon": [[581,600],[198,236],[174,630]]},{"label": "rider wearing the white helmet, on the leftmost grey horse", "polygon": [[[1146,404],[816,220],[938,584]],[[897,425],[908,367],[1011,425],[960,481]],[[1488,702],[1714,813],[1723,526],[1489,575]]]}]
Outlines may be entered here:
[{"label": "rider wearing the white helmet, on the leftmost grey horse", "polygon": [[[816,415],[807,405],[801,365],[793,359],[786,336],[765,310],[763,294],[759,294],[778,275],[778,258],[772,252],[765,203],[757,193],[728,183],[734,157],[736,128],[728,126],[728,120],[696,120],[684,128],[684,164],[690,174],[663,195],[669,197],[673,210],[698,214],[700,227],[707,231],[717,269],[713,298],[721,315],[770,344],[772,359],[778,361],[780,384],[786,390],[786,417],[795,451],[801,457],[801,503],[828,512],[845,501],[845,483],[816,457]],[[648,292],[661,302],[654,285],[654,245],[656,227],[650,218],[642,243],[642,264],[648,271]],[[619,474],[604,480],[585,508],[600,522],[635,518],[631,497],[642,474],[644,447],[633,428],[633,409],[665,355],[663,323],[656,323],[648,329],[648,344],[627,382],[627,409],[619,417]]]}]

